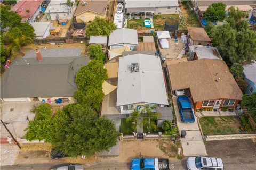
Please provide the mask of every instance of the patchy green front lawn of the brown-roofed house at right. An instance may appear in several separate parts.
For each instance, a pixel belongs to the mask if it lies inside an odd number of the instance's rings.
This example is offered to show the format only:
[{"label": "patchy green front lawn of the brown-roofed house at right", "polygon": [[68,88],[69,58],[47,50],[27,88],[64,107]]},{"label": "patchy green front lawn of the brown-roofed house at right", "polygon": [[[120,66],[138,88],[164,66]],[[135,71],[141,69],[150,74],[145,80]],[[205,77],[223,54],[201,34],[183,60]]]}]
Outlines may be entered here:
[{"label": "patchy green front lawn of the brown-roofed house at right", "polygon": [[200,124],[205,136],[241,133],[238,117],[202,117]]}]

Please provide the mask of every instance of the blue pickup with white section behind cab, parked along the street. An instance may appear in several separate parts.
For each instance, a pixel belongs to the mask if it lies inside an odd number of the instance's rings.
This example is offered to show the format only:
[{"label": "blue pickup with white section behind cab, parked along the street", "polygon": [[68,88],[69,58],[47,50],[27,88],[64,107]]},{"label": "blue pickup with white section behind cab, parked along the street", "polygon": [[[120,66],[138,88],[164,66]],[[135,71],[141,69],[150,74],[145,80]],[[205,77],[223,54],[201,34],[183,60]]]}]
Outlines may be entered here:
[{"label": "blue pickup with white section behind cab, parked along the street", "polygon": [[132,170],[169,170],[169,160],[162,158],[137,158],[132,160]]}]

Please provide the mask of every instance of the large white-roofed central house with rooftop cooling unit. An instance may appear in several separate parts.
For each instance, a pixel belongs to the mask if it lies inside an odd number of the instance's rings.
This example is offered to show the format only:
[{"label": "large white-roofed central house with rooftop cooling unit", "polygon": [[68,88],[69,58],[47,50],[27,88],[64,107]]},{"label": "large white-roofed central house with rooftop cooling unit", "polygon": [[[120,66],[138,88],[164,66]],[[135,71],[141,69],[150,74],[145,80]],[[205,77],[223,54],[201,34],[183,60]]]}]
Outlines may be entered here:
[{"label": "large white-roofed central house with rooftop cooling unit", "polygon": [[168,105],[160,58],[147,54],[120,57],[116,106],[127,114],[146,105]]}]

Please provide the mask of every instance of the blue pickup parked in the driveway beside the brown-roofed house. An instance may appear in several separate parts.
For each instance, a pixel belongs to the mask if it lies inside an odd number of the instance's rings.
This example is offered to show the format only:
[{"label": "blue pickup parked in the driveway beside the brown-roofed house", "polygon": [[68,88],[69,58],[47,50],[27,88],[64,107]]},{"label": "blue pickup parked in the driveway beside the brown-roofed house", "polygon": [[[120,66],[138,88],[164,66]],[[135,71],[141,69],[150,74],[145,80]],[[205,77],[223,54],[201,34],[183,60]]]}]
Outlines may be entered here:
[{"label": "blue pickup parked in the driveway beside the brown-roofed house", "polygon": [[184,123],[195,122],[193,109],[187,96],[177,98],[181,121]]}]

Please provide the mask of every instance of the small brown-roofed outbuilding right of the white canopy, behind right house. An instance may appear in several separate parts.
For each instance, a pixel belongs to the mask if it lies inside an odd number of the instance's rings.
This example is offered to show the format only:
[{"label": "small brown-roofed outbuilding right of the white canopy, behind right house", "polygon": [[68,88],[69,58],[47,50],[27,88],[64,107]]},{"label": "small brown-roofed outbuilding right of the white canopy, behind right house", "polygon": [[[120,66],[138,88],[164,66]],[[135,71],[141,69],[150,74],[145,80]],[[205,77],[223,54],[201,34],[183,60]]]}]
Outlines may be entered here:
[{"label": "small brown-roofed outbuilding right of the white canopy, behind right house", "polygon": [[206,46],[211,39],[207,35],[204,28],[200,27],[188,27],[188,43],[189,45],[204,45]]}]

